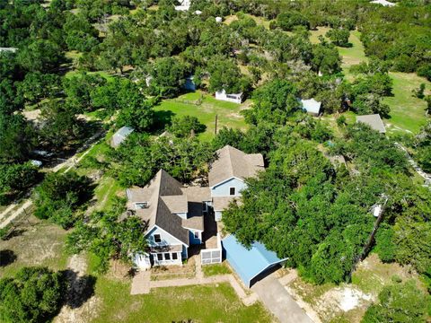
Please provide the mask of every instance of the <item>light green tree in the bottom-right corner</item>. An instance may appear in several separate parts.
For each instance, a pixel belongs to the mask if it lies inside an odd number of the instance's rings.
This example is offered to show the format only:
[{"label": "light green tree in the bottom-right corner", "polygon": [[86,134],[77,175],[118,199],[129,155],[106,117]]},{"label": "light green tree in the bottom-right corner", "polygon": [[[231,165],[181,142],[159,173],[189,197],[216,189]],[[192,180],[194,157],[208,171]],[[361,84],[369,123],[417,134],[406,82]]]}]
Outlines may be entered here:
[{"label": "light green tree in the bottom-right corner", "polygon": [[362,322],[425,322],[429,303],[429,296],[414,281],[392,284],[383,287],[379,303],[366,310]]}]

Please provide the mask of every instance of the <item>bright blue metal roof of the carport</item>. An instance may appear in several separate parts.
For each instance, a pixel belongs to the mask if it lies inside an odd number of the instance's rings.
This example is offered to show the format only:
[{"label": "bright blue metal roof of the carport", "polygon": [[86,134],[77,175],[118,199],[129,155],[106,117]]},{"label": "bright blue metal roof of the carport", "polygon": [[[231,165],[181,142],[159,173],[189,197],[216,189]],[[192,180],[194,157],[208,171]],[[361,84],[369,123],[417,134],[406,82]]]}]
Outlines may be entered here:
[{"label": "bright blue metal roof of the carport", "polygon": [[266,249],[260,242],[253,242],[251,249],[246,249],[233,234],[224,238],[222,242],[226,260],[248,287],[254,277],[286,260],[278,258],[274,251]]}]

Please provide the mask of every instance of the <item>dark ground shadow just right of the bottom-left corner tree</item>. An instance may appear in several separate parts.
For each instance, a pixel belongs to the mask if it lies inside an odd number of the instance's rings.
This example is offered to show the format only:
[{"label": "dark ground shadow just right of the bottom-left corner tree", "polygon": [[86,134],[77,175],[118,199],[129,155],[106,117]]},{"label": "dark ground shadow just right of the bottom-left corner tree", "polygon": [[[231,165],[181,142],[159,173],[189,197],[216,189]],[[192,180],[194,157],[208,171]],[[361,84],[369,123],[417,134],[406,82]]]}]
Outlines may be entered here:
[{"label": "dark ground shadow just right of the bottom-left corner tree", "polygon": [[71,309],[83,306],[94,294],[96,277],[93,275],[78,275],[73,270],[66,269],[62,272],[68,284],[65,304]]}]

